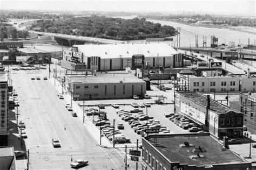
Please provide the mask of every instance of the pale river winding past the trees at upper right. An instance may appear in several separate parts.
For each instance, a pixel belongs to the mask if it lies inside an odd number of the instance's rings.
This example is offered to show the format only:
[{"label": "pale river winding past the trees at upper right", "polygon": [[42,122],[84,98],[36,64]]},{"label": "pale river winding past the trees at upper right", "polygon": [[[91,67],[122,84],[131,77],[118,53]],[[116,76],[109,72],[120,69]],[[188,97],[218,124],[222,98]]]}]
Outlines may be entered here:
[{"label": "pale river winding past the trees at upper right", "polygon": [[[132,19],[136,16],[121,16],[117,18],[124,18],[124,19]],[[215,36],[218,38],[218,44],[223,44],[226,42],[228,45],[230,41],[234,41],[235,45],[239,44],[248,44],[248,38],[250,38],[250,44],[255,43],[256,36],[254,34],[240,32],[240,31],[233,31],[229,29],[218,29],[218,28],[208,28],[208,27],[200,27],[200,26],[190,26],[186,24],[174,23],[165,20],[155,20],[155,19],[147,19],[149,22],[153,23],[160,23],[161,25],[169,25],[173,26],[174,28],[181,27],[180,31],[180,46],[195,46],[196,45],[196,38],[195,36],[198,35],[198,45],[203,46],[203,36],[206,36],[206,45],[211,45],[211,36]],[[177,43],[177,39],[174,39],[174,42]],[[177,44],[176,44],[177,46]]]}]

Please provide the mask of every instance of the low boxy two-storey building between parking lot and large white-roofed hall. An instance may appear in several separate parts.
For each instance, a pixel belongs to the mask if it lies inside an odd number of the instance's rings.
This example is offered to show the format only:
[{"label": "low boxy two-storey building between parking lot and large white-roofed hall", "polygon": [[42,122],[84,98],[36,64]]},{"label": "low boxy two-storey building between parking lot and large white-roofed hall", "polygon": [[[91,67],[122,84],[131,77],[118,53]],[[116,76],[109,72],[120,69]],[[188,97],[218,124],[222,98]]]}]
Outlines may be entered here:
[{"label": "low boxy two-storey building between parking lot and large white-roofed hall", "polygon": [[146,82],[131,74],[65,75],[74,100],[131,98],[146,93]]}]

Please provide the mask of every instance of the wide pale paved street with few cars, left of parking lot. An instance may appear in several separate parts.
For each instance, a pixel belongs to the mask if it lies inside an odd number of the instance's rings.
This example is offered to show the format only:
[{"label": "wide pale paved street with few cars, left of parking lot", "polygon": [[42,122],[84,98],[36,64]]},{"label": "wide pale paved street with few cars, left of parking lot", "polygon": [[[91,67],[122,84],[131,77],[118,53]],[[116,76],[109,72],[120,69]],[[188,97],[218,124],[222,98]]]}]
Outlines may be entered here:
[{"label": "wide pale paved street with few cars, left of parking lot", "polygon": [[[48,75],[47,71],[35,73],[32,70],[19,70],[11,75],[20,102],[18,119],[24,119],[26,124],[28,139],[23,139],[23,150],[31,149],[30,168],[69,169],[73,158],[89,160],[89,165],[84,169],[123,169],[124,152],[98,146],[83,123],[66,110],[64,100],[59,100],[50,80],[43,80]],[[31,80],[36,76],[41,80]],[[16,120],[13,119],[13,122],[16,123]],[[11,128],[14,134],[11,135],[10,144],[14,143],[15,150],[19,150],[15,124]],[[53,137],[59,139],[62,147],[53,148]],[[26,162],[26,159],[19,158],[17,169],[26,168]]]}]

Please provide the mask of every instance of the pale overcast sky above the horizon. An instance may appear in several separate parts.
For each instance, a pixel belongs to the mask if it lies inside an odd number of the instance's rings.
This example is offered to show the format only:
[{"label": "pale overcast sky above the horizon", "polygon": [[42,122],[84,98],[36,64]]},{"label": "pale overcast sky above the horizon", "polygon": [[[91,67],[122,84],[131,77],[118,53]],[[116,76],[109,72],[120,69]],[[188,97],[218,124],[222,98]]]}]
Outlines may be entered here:
[{"label": "pale overcast sky above the horizon", "polygon": [[109,0],[0,0],[0,9],[125,11],[125,12],[195,12],[217,15],[255,16],[255,0],[165,0],[165,1],[109,1]]}]

